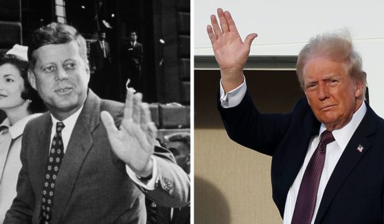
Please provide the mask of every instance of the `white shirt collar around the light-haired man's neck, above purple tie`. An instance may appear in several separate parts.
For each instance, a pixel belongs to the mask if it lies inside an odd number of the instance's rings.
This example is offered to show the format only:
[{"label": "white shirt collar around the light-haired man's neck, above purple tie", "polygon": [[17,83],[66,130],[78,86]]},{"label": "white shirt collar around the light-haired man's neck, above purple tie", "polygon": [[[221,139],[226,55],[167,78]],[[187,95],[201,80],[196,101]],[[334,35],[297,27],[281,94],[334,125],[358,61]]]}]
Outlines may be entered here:
[{"label": "white shirt collar around the light-haired man's neck, above purple tie", "polygon": [[[352,138],[352,135],[354,134],[354,131],[356,131],[357,127],[363,120],[365,112],[367,112],[367,105],[365,105],[365,102],[363,101],[359,110],[357,110],[357,112],[354,112],[354,114],[352,115],[352,119],[346,125],[344,125],[344,127],[332,131],[333,137],[335,138],[337,145],[339,145],[342,150],[347,147],[350,138]],[[324,125],[324,123],[321,123],[319,136],[325,130],[326,125]]]}]

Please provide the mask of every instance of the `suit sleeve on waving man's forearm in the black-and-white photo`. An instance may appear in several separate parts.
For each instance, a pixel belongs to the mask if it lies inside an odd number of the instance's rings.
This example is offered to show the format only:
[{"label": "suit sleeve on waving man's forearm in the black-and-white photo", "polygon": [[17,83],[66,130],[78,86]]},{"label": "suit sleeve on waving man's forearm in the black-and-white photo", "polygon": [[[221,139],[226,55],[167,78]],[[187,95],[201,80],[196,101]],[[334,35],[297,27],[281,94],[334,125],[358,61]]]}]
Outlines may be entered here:
[{"label": "suit sleeve on waving man's forearm in the black-and-white photo", "polygon": [[158,179],[155,190],[139,187],[155,203],[166,207],[183,207],[190,203],[190,177],[174,162],[172,153],[155,147]]}]

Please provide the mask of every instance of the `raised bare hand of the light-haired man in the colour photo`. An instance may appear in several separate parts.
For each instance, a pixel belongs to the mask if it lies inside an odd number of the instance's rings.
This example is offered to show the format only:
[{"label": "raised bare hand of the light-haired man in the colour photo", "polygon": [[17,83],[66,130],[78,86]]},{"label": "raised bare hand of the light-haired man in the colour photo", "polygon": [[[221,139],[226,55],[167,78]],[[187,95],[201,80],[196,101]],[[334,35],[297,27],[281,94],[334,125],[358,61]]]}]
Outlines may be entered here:
[{"label": "raised bare hand of the light-haired man in the colour photo", "polygon": [[258,34],[248,34],[242,42],[235,22],[228,11],[217,10],[220,25],[215,15],[211,16],[211,25],[207,25],[214,55],[220,66],[221,79],[225,92],[238,86],[243,81],[242,69],[251,49],[251,43]]}]

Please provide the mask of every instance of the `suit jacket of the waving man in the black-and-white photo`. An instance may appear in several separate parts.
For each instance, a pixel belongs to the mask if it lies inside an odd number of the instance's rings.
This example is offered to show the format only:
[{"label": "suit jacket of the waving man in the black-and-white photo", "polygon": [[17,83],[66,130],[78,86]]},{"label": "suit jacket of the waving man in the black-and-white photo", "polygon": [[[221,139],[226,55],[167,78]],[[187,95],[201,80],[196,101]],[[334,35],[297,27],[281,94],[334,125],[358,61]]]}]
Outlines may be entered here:
[{"label": "suit jacket of the waving man in the black-and-white photo", "polygon": [[[52,224],[145,223],[143,192],[164,206],[179,207],[190,201],[188,175],[177,166],[172,154],[161,147],[155,147],[159,171],[155,190],[141,189],[128,177],[125,164],[113,153],[100,121],[100,112],[106,110],[119,125],[123,106],[102,100],[89,90],[56,179]],[[17,196],[5,223],[41,221],[51,128],[48,112],[25,127]]]}]

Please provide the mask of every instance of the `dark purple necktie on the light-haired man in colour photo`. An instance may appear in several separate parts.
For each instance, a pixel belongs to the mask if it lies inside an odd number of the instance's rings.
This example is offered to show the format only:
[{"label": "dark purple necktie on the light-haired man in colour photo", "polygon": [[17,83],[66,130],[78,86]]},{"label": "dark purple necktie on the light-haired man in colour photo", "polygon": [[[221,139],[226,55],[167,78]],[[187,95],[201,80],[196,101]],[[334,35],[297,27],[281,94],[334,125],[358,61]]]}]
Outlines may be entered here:
[{"label": "dark purple necktie on the light-haired man in colour photo", "polygon": [[334,140],[332,132],[324,131],[321,134],[319,145],[317,145],[306,166],[302,184],[300,184],[295,210],[293,211],[292,224],[310,224],[312,221],[317,190],[319,189],[320,177],[326,159],[326,147],[328,143]]}]

